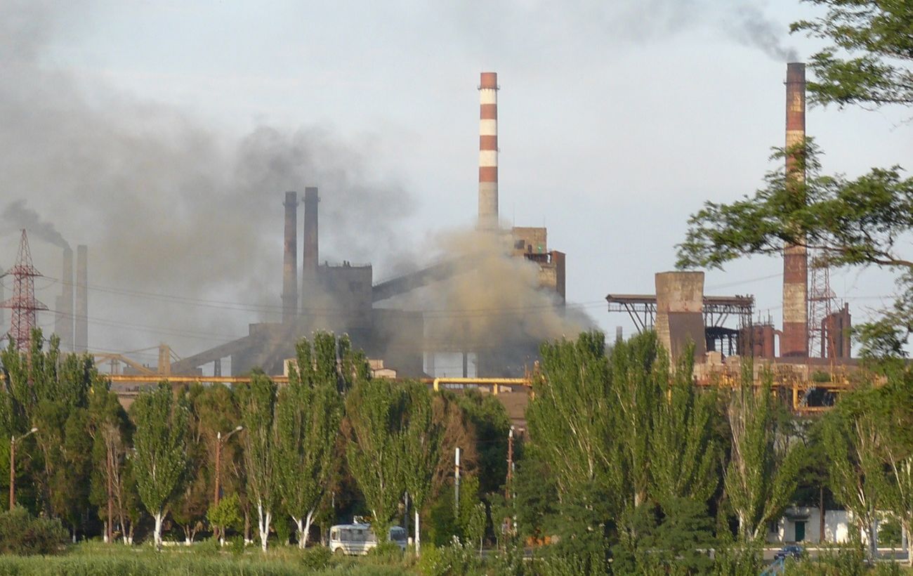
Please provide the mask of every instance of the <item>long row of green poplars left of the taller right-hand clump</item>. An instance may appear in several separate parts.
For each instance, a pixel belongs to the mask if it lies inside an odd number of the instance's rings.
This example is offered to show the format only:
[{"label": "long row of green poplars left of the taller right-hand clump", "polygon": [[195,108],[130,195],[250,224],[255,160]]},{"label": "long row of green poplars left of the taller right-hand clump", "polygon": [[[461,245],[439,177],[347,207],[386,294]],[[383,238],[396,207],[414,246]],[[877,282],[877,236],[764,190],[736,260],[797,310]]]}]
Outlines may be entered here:
[{"label": "long row of green poplars left of the taller right-hand clump", "polygon": [[161,382],[129,410],[89,356],[62,354],[39,330],[0,363],[0,466],[15,441],[16,502],[58,518],[74,540],[132,543],[150,529],[161,546],[167,529],[187,542],[235,530],[264,550],[270,534],[304,548],[315,526],[324,539],[355,515],[383,541],[408,514],[417,550],[432,499],[450,508],[424,530],[436,543],[478,525],[452,496],[456,446],[464,509],[478,510],[507,473],[510,424],[497,399],[372,379],[345,336],[299,340],[288,385],[262,372],[232,387]]}]

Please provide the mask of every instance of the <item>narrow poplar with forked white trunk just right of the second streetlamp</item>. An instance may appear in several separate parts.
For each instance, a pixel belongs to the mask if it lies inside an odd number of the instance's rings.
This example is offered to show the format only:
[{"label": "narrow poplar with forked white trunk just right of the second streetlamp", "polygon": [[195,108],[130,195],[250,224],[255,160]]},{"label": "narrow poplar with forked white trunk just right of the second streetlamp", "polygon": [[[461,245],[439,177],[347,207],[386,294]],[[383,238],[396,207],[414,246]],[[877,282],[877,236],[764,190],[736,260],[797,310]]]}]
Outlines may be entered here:
[{"label": "narrow poplar with forked white trunk just right of the second streetlamp", "polygon": [[278,501],[276,473],[276,383],[254,372],[250,383],[238,389],[247,469],[247,491],[257,505],[260,547],[267,550],[269,526]]}]

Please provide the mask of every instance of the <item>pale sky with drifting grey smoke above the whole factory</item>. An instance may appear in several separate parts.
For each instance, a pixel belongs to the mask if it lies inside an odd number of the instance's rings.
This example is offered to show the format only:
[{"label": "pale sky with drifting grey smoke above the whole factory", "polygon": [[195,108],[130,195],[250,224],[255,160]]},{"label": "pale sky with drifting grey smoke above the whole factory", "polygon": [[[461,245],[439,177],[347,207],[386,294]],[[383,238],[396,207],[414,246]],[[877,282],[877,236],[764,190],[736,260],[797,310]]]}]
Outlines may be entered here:
[{"label": "pale sky with drifting grey smoke above the whole factory", "polygon": [[[818,15],[795,0],[9,0],[0,214],[19,203],[89,245],[90,348],[190,355],[276,319],[286,190],[320,187],[321,257],[383,279],[443,256],[426,246],[475,223],[478,75],[496,71],[502,221],[548,226],[569,305],[630,334],[605,295],[652,293],[688,215],[774,168],[785,61],[820,46],[788,25]],[[809,110],[824,172],[909,164],[904,112]],[[2,267],[17,227],[0,217]],[[59,247],[30,240],[53,306]],[[744,258],[706,292],[753,294],[779,324],[781,274]],[[877,269],[832,287],[855,321],[894,291]]]}]

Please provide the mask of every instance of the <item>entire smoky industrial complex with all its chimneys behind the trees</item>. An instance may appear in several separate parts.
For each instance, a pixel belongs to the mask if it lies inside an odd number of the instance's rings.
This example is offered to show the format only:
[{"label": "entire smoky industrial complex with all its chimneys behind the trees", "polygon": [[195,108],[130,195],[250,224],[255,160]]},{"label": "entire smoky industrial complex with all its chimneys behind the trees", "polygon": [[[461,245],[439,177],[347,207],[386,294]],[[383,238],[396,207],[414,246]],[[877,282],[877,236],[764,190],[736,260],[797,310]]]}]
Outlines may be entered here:
[{"label": "entire smoky industrial complex with all its chimneys behind the trees", "polygon": [[[276,191],[276,204],[284,208],[281,321],[250,324],[247,336],[204,351],[182,351],[191,353],[180,359],[163,345],[157,366],[117,354],[96,354],[99,360],[111,361],[112,379],[133,384],[163,377],[230,381],[257,367],[282,374],[296,340],[315,330],[331,330],[349,334],[353,345],[372,359],[378,375],[477,379],[494,382],[496,391],[497,382],[528,382],[509,379],[529,378],[541,340],[588,326],[569,317],[566,259],[551,248],[548,230],[505,227],[498,216],[498,89],[497,74],[483,72],[478,85],[478,216],[470,233],[473,241],[467,243],[471,247],[397,278],[376,281],[371,264],[321,260],[320,183],[304,188],[303,194]],[[805,69],[801,63],[791,63],[786,76],[787,147],[804,138]],[[786,171],[796,182],[803,178],[792,158],[787,159]],[[299,206],[303,207],[301,219]],[[299,221],[303,222],[300,241]],[[34,295],[32,282],[39,273],[28,255],[25,231],[21,243],[19,260],[6,270],[14,280],[15,294],[4,301],[4,308],[13,311],[9,334],[18,342],[37,325],[37,311],[47,309]],[[536,294],[538,305],[553,314],[554,325],[533,329],[520,315],[492,319],[494,313],[473,314],[478,310],[471,290],[467,301],[455,304],[459,298],[454,287],[479,285],[479,270],[486,270],[490,278],[492,266],[501,274],[521,278],[520,284]],[[77,247],[75,267],[73,251],[64,249],[61,278],[54,307],[54,331],[61,349],[91,351],[86,246]],[[277,285],[278,279],[277,275]],[[490,282],[485,289],[508,288]],[[442,298],[452,306],[449,313],[436,308]],[[606,300],[610,312],[626,313],[638,330],[655,329],[673,357],[693,344],[698,382],[731,378],[739,373],[743,359],[752,358],[756,371],[769,367],[778,385],[792,388],[796,410],[823,409],[832,403],[833,393],[845,386],[846,374],[855,367],[849,309],[838,303],[831,290],[827,268],[804,246],[783,250],[779,328],[772,319],[756,316],[754,298],[749,295],[705,294],[701,272],[659,273],[654,294],[612,292]],[[484,309],[485,305],[476,306]],[[442,371],[437,360],[443,355],[459,356],[462,370]]]}]

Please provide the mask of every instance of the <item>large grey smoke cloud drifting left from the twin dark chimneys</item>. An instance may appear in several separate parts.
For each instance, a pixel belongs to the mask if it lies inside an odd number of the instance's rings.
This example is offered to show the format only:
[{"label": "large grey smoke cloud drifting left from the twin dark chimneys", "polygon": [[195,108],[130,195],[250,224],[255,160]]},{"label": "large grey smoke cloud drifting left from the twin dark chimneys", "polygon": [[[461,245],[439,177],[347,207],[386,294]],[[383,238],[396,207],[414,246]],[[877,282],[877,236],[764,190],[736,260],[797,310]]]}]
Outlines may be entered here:
[{"label": "large grey smoke cloud drifting left from the twin dark chimneys", "polygon": [[[163,340],[189,355],[278,319],[287,190],[320,188],[321,260],[390,251],[413,203],[394,177],[374,175],[360,144],[310,126],[231,137],[47,65],[56,27],[86,9],[0,3],[0,173],[16,191],[5,222],[89,245],[90,344]],[[57,254],[34,256],[57,276]]]}]

